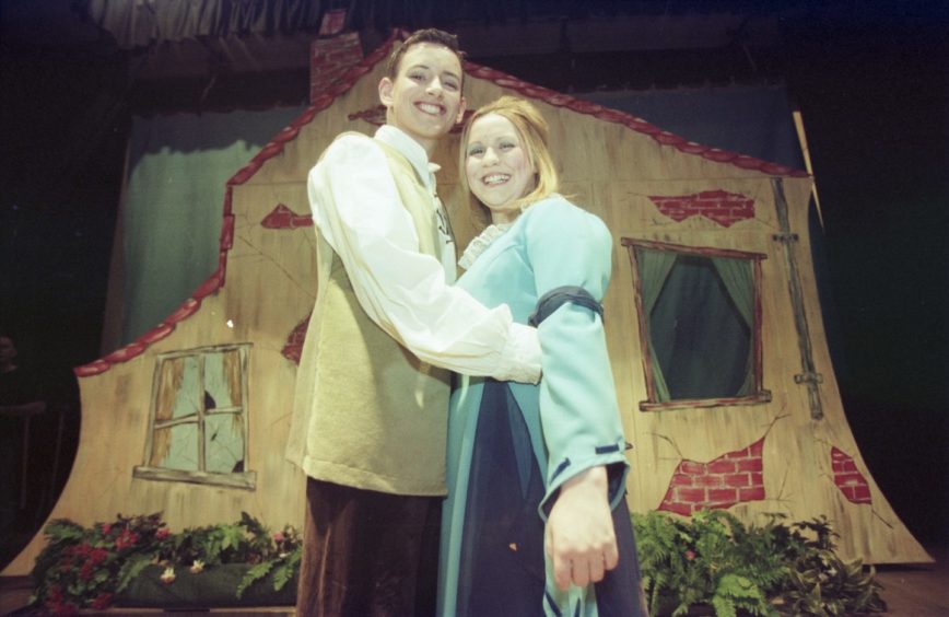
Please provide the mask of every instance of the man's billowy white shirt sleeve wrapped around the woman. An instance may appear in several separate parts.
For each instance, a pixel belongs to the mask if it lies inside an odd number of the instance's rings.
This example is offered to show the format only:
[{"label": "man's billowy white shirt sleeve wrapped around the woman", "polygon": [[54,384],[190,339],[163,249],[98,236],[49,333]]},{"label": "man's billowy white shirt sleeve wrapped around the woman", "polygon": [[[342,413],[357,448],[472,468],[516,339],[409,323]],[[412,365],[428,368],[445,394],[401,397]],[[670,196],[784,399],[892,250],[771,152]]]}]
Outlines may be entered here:
[{"label": "man's billowy white shirt sleeve wrapped around the woman", "polygon": [[319,233],[339,255],[360,304],[386,333],[431,364],[534,383],[540,351],[532,328],[507,305],[488,310],[450,287],[442,264],[419,249],[388,161],[372,139],[336,140],[311,171]]}]

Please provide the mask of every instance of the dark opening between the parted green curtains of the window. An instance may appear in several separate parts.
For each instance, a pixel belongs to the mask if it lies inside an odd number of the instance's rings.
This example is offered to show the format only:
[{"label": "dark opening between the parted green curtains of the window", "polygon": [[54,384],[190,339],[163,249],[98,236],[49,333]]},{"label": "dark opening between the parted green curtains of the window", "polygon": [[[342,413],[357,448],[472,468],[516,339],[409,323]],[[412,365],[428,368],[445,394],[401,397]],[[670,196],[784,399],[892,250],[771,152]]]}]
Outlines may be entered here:
[{"label": "dark opening between the parted green curtains of the window", "polygon": [[649,313],[649,335],[670,399],[747,394],[751,329],[711,258],[678,256]]}]

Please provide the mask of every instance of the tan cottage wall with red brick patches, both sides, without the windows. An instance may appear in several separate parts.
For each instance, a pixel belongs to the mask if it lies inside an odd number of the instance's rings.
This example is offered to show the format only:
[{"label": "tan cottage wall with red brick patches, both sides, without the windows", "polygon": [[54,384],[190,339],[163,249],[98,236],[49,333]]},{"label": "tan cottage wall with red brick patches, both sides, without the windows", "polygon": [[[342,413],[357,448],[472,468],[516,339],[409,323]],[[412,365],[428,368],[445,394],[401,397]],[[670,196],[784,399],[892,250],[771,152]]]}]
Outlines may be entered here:
[{"label": "tan cottage wall with red brick patches, both sides, without the windows", "polygon": [[[316,293],[306,175],[333,136],[343,130],[371,133],[374,123],[382,121],[377,83],[383,66],[377,61],[387,51],[383,47],[347,73],[235,173],[223,208],[218,272],[139,341],[77,370],[82,432],[71,477],[50,519],[92,524],[116,513],[161,511],[177,531],[233,522],[247,511],[274,528],[302,523],[304,479],[283,451],[294,353]],[[747,521],[775,512],[792,521],[827,515],[841,533],[847,557],[930,560],[870,477],[844,417],[810,259],[811,179],[689,143],[645,120],[487,68],[471,65],[468,70],[471,107],[505,93],[536,100],[551,125],[563,193],[601,217],[613,233],[606,323],[623,422],[634,444],[632,510],[688,514],[701,507],[727,507]],[[457,140],[455,133],[435,159],[443,165],[440,191],[464,247],[474,232],[458,190]],[[775,178],[787,205],[784,225]],[[664,198],[678,198],[678,209],[667,208]],[[736,200],[743,203],[738,214],[723,210]],[[796,240],[775,240],[790,234]],[[641,410],[647,392],[635,277],[624,238],[765,256],[761,370],[769,401]],[[795,286],[805,339],[795,322]],[[805,372],[801,340],[822,380],[813,391],[820,418],[808,385],[795,380]],[[244,472],[253,476],[254,488],[137,477],[133,469],[148,459],[154,375],[163,354],[229,345],[249,346]],[[3,574],[26,573],[42,546],[40,534]]]}]

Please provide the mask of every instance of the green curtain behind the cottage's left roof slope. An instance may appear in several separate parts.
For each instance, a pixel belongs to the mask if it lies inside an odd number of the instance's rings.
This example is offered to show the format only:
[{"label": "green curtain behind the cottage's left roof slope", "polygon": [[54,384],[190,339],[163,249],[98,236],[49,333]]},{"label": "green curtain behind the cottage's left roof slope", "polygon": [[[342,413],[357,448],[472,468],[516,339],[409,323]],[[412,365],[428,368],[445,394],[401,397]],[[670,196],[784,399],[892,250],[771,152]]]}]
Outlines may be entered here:
[{"label": "green curtain behind the cottage's left roof slope", "polygon": [[227,179],[303,112],[134,118],[122,203],[121,341],[162,322],[218,268]]}]

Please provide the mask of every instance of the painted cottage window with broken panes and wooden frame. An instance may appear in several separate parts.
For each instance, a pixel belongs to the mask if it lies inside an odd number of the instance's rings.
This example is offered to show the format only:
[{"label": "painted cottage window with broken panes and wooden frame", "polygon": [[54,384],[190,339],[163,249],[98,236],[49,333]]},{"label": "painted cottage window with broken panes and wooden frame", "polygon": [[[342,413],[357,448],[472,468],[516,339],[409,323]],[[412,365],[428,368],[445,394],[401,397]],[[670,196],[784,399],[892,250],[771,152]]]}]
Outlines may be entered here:
[{"label": "painted cottage window with broken panes and wooden frame", "polygon": [[247,467],[248,345],[159,356],[139,478],[253,489]]}]

